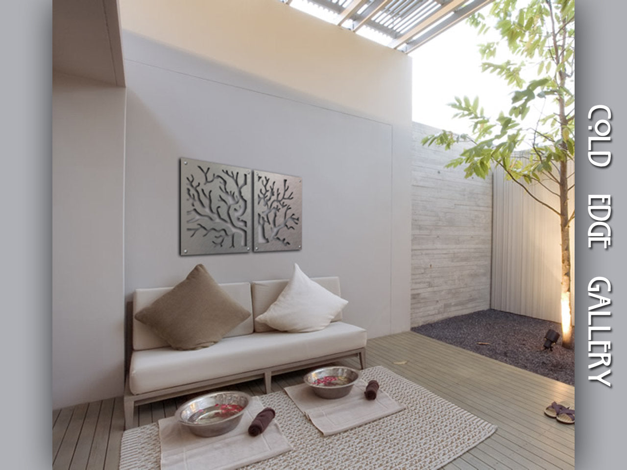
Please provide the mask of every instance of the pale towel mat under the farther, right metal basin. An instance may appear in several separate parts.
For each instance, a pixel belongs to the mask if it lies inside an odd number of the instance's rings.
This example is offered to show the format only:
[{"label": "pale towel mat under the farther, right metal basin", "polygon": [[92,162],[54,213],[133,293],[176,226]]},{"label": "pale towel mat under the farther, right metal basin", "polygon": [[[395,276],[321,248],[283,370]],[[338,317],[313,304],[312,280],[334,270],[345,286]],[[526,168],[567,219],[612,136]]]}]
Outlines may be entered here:
[{"label": "pale towel mat under the farther, right metal basin", "polygon": [[366,400],[366,385],[359,379],[348,395],[333,400],[320,398],[306,384],[284,390],[324,436],[331,436],[405,409],[405,405],[391,399],[381,388],[375,400]]}]

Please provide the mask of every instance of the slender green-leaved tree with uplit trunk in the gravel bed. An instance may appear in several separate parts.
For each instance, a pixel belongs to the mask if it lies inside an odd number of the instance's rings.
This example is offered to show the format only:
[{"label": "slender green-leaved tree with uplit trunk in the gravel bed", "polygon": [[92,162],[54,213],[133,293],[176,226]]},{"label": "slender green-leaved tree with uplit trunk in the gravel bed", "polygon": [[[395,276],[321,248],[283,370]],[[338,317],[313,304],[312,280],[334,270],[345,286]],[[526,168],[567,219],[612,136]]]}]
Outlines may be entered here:
[{"label": "slender green-leaved tree with uplit trunk in the gravel bed", "polygon": [[[470,120],[472,131],[455,135],[443,130],[428,135],[423,145],[450,149],[456,142],[468,144],[460,157],[447,167],[465,165],[466,177],[485,179],[493,165],[502,167],[506,179],[519,184],[526,194],[556,214],[561,231],[562,345],[572,348],[571,246],[569,226],[574,211],[569,209],[568,192],[574,187],[574,0],[496,0],[490,8],[495,26],[514,55],[514,60],[490,61],[497,55],[497,44],[480,45],[482,71],[493,73],[512,87],[512,103],[507,112],[488,117],[478,97],[455,97],[450,106],[454,117]],[[487,31],[482,14],[468,19],[479,33]],[[534,77],[526,75],[533,70]],[[529,110],[542,113],[532,127],[522,124]],[[529,149],[520,157],[517,150]],[[516,152],[516,153],[514,153]],[[548,198],[537,196],[529,185],[542,185]]]}]

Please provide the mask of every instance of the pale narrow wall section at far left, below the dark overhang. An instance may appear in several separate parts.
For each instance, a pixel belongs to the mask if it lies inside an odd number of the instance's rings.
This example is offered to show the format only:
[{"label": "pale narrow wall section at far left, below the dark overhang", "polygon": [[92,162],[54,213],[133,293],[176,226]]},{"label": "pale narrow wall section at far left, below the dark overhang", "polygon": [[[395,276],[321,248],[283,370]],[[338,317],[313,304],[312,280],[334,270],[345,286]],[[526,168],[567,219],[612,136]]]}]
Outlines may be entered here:
[{"label": "pale narrow wall section at far left, below the dark overhang", "polygon": [[53,77],[53,409],[124,391],[125,99]]}]

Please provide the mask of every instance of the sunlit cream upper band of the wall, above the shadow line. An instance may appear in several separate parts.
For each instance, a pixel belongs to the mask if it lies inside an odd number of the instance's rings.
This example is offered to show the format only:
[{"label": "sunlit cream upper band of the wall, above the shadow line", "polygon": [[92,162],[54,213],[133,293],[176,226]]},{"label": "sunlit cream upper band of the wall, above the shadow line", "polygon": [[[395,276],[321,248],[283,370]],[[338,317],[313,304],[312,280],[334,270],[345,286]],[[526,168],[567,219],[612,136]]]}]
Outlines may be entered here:
[{"label": "sunlit cream upper band of the wall, above the shadow line", "polygon": [[278,0],[119,0],[122,28],[387,121],[411,124],[411,58]]}]

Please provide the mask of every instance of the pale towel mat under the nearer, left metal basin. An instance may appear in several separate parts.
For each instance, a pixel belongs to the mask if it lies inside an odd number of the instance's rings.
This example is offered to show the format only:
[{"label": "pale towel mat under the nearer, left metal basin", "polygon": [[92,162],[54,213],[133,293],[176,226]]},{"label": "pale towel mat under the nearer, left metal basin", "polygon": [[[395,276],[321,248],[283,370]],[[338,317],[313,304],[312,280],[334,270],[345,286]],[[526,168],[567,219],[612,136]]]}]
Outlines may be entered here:
[{"label": "pale towel mat under the nearer, left metal basin", "polygon": [[253,397],[240,424],[214,437],[196,436],[174,417],[160,419],[161,470],[236,469],[292,450],[275,420],[259,436],[248,435],[248,426],[263,408]]}]

